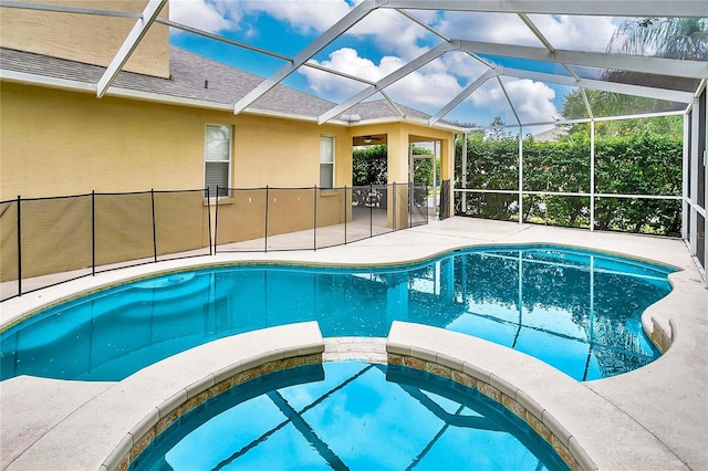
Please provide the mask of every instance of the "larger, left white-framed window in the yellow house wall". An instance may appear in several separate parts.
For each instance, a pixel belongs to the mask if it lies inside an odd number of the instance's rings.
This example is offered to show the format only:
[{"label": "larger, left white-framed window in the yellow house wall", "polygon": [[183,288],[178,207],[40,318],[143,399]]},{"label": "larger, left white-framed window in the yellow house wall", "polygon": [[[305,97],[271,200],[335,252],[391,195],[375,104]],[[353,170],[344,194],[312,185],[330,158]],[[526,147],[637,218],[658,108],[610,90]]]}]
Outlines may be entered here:
[{"label": "larger, left white-framed window in the yellow house wall", "polygon": [[[204,185],[209,189],[209,196],[229,196],[231,126],[214,124],[206,126],[204,160]],[[217,187],[219,187],[218,195]]]}]

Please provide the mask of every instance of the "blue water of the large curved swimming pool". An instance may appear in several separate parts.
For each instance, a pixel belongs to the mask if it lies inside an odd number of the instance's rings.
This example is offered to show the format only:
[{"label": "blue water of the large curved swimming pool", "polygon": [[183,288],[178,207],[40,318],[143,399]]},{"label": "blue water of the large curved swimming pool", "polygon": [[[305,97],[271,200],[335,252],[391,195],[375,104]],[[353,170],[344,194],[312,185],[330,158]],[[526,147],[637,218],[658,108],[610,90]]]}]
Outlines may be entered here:
[{"label": "blue water of the large curved swimming pool", "polygon": [[325,337],[385,337],[393,321],[461,332],[579,380],[658,357],[641,316],[673,269],[548,245],[466,249],[387,268],[235,265],[127,283],[2,332],[2,379],[119,380],[228,335],[317,321]]}]

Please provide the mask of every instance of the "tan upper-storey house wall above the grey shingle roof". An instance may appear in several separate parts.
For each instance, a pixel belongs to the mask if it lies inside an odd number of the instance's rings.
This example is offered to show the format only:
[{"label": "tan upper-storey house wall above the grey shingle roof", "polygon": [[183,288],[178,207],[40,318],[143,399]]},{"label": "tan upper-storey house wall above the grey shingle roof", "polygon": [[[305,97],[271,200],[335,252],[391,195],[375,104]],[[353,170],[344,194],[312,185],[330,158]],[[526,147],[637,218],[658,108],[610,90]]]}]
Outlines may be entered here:
[{"label": "tan upper-storey house wall above the grey shingle roof", "polygon": [[[32,3],[140,13],[147,0],[32,0]],[[168,18],[168,6],[162,18]],[[87,64],[107,66],[136,18],[3,8],[0,44]],[[123,70],[169,76],[168,28],[153,24]]]}]

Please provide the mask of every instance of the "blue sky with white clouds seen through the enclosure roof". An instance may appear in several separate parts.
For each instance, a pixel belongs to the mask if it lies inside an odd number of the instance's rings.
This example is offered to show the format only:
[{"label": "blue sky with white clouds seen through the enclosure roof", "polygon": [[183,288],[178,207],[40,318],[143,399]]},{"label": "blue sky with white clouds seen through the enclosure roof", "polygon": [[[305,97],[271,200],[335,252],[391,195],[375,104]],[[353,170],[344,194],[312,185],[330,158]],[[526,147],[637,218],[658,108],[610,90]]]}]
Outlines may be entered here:
[{"label": "blue sky with white clouds seen through the enclosure roof", "polygon": [[[236,41],[294,56],[346,14],[360,0],[171,0],[170,19]],[[541,46],[513,14],[409,11],[448,38]],[[603,17],[531,15],[558,49],[604,51],[620,20]],[[233,45],[173,31],[177,46],[269,76],[284,62]],[[319,53],[314,61],[330,69],[377,81],[440,43],[441,39],[393,10],[372,12],[346,34]],[[555,64],[532,64],[486,57],[507,67],[549,72]],[[403,78],[386,93],[397,103],[436,114],[487,70],[468,54],[448,53]],[[530,80],[502,80],[523,123],[558,118],[569,87]],[[287,85],[341,102],[365,85],[311,67],[301,67]],[[375,96],[381,97],[381,96]],[[516,118],[496,80],[489,81],[446,116],[487,125],[494,116],[512,124]]]}]

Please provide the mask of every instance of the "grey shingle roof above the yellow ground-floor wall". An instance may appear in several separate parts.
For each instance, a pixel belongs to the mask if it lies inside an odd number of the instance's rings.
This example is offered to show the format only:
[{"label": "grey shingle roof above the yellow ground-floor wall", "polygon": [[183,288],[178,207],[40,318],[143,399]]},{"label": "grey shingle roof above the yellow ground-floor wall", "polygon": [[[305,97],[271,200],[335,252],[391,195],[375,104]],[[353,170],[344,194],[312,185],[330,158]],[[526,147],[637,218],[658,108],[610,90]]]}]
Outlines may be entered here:
[{"label": "grey shingle roof above the yellow ground-floor wall", "polygon": [[[263,81],[258,75],[175,46],[169,48],[169,78],[122,71],[112,86],[228,108]],[[0,70],[95,86],[105,67],[0,48]],[[316,118],[334,106],[336,103],[279,84],[257,100],[249,111]],[[406,117],[430,117],[403,105],[396,106]],[[363,121],[400,118],[398,111],[384,100],[360,103],[346,113],[358,114]]]}]

